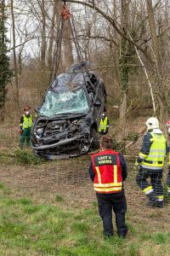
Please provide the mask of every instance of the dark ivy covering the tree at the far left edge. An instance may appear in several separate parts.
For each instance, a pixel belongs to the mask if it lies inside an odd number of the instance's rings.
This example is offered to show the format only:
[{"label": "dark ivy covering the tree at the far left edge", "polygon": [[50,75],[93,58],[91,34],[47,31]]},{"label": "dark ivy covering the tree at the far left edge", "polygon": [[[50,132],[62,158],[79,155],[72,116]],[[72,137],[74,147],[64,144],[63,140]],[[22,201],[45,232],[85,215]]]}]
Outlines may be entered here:
[{"label": "dark ivy covering the tree at the far left edge", "polygon": [[7,55],[8,39],[6,37],[7,29],[5,27],[5,2],[0,1],[0,108],[3,108],[6,100],[6,85],[10,81],[13,73],[9,67],[9,57]]}]

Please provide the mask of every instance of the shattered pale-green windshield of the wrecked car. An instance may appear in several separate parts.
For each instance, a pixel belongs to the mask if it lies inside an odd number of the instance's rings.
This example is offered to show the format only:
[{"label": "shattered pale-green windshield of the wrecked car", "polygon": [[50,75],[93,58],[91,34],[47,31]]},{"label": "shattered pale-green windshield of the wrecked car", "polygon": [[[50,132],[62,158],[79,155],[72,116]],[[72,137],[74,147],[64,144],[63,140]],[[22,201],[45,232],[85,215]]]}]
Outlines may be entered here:
[{"label": "shattered pale-green windshield of the wrecked car", "polygon": [[88,100],[83,89],[48,90],[39,112],[48,117],[62,113],[88,113]]}]

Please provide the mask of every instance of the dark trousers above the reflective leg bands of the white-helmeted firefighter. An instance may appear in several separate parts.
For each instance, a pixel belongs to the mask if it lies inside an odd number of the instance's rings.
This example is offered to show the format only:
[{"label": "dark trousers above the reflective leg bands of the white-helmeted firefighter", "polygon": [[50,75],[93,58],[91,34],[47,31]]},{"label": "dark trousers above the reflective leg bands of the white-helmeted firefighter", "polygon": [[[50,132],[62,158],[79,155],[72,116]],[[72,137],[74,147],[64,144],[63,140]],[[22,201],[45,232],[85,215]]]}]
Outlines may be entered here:
[{"label": "dark trousers above the reflective leg bands of the white-helmeted firefighter", "polygon": [[[136,177],[136,182],[141,189],[146,189],[150,185],[154,189],[155,196],[163,195],[163,187],[161,184],[163,170],[147,170],[140,167]],[[147,178],[150,177],[150,183]]]}]

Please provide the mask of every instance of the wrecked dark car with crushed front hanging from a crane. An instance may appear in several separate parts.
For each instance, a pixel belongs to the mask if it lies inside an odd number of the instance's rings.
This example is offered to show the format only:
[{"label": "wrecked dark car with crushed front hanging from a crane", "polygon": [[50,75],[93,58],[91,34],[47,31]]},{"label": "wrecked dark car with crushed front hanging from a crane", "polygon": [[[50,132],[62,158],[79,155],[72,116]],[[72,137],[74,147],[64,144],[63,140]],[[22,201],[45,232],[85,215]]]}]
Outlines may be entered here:
[{"label": "wrecked dark car with crushed front hanging from a crane", "polygon": [[49,160],[99,148],[98,127],[106,108],[105,85],[93,71],[75,64],[50,84],[31,131],[35,154]]}]

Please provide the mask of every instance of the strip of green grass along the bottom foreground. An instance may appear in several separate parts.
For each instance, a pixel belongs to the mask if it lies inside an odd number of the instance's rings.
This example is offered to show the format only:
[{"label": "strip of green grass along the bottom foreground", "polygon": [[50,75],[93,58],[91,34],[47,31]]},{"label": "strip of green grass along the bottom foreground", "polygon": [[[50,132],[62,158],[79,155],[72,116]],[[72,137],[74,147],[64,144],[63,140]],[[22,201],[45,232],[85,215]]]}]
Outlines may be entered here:
[{"label": "strip of green grass along the bottom foreground", "polygon": [[[6,189],[0,183],[0,192]],[[37,204],[31,198],[14,198],[12,192],[0,193],[0,255],[168,255],[168,230],[153,232],[147,222],[133,224],[127,213],[127,239],[105,240],[96,203],[75,210],[63,197],[54,199],[54,204]]]}]

